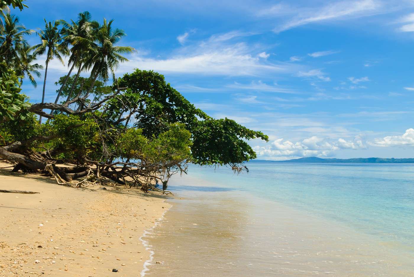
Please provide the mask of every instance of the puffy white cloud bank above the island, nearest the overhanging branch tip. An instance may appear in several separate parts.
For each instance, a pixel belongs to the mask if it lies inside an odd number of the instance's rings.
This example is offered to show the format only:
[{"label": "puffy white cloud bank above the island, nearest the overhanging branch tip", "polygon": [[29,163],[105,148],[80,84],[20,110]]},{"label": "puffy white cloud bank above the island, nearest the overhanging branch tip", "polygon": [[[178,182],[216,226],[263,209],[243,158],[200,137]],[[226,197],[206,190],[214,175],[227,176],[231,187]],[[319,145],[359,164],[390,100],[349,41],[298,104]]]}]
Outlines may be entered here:
[{"label": "puffy white cloud bank above the island, nearest the overhanging branch tip", "polygon": [[301,142],[291,142],[279,138],[274,140],[270,146],[254,147],[259,157],[329,157],[339,149],[366,149],[360,136],[354,140],[327,140],[322,137],[309,137]]}]

